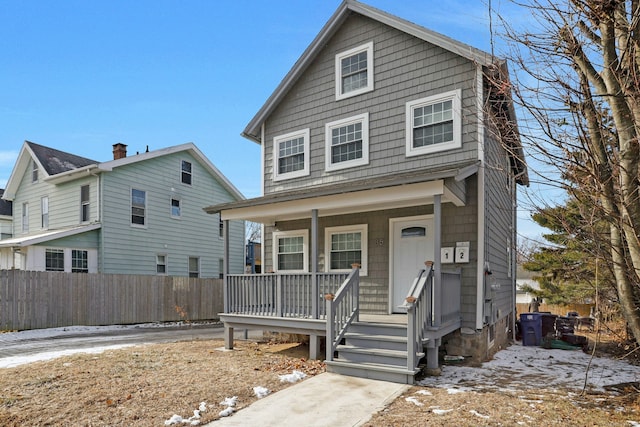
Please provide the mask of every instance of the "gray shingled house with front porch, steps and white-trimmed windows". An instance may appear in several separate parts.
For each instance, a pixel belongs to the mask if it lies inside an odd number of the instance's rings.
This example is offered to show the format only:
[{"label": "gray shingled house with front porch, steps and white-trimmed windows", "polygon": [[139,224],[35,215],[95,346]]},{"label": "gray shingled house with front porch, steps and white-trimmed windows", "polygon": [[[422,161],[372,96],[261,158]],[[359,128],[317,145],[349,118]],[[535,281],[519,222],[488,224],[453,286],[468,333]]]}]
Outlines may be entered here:
[{"label": "gray shingled house with front porch, steps and white-trimmed windows", "polygon": [[273,272],[226,277],[227,347],[324,336],[328,370],[402,382],[442,346],[490,357],[515,320],[515,120],[504,61],[343,1],[244,129],[264,195],[207,208],[262,223]]}]

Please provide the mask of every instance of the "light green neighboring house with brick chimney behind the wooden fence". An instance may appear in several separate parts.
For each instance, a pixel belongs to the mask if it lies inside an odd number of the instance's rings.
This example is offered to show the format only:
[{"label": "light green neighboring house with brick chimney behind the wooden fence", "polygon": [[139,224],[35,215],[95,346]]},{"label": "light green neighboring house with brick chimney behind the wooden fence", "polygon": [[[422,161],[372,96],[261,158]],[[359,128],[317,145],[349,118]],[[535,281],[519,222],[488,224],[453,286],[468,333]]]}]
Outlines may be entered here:
[{"label": "light green neighboring house with brick chimney behind the wooden fence", "polygon": [[[26,141],[2,199],[13,236],[0,269],[220,277],[223,223],[203,208],[244,197],[192,143],[107,162]],[[230,271],[244,268],[244,222],[229,224]]]}]

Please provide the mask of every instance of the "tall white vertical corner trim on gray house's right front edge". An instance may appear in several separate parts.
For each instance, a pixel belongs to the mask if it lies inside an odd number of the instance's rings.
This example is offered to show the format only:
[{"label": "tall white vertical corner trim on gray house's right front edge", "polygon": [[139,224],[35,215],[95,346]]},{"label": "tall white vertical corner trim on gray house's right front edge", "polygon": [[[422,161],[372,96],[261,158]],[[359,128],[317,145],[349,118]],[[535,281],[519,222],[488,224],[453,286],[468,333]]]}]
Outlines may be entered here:
[{"label": "tall white vertical corner trim on gray house's right front edge", "polygon": [[484,265],[485,265],[485,182],[484,182],[484,102],[482,66],[476,67],[476,99],[478,110],[478,264],[476,266],[476,330],[484,327]]}]

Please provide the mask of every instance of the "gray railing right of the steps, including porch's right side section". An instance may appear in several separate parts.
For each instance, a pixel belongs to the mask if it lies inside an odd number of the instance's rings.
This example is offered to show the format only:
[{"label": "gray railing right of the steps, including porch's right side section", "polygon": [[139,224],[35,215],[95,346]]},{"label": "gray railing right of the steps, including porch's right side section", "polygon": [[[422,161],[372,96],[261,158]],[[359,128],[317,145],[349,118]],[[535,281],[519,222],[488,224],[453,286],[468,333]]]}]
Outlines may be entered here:
[{"label": "gray railing right of the steps, including porch's right side section", "polygon": [[433,264],[427,263],[407,295],[408,369],[418,366],[429,331],[460,320],[460,271],[442,272],[440,277],[440,286],[436,286]]}]

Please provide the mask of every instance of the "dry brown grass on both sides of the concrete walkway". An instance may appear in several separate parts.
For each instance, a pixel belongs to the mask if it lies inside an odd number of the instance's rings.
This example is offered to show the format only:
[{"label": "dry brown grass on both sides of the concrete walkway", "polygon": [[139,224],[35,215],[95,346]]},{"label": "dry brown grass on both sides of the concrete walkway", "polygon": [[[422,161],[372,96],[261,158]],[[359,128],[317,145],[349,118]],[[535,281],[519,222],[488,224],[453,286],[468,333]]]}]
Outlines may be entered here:
[{"label": "dry brown grass on both sides of the concrete walkway", "polygon": [[[189,418],[206,402],[205,424],[219,418],[226,398],[237,396],[241,410],[257,400],[255,386],[276,392],[291,386],[279,375],[324,371],[322,362],[304,358],[304,345],[237,342],[235,350],[220,351],[222,346],[218,340],[155,344],[0,369],[0,425],[163,426],[174,414]],[[366,425],[633,426],[640,425],[628,422],[640,419],[639,391],[635,383],[585,396],[412,387]]]}]

